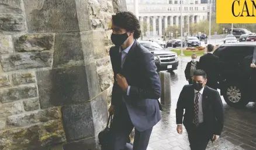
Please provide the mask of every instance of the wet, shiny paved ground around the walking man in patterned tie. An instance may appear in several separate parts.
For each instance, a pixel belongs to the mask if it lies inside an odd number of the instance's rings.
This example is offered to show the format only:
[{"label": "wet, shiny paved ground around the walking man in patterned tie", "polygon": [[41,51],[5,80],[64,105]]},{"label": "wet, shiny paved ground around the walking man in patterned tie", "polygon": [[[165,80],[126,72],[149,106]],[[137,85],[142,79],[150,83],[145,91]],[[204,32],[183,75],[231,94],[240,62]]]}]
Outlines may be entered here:
[{"label": "wet, shiny paved ground around the walking man in patterned tie", "polygon": [[[185,127],[179,135],[176,131],[175,109],[179,93],[187,84],[184,70],[190,58],[179,58],[178,70],[171,73],[172,105],[164,106],[162,120],[153,128],[149,147],[154,150],[189,150]],[[207,150],[213,149],[256,149],[256,108],[249,103],[244,109],[231,108],[224,102],[224,129],[219,140],[209,142]]]}]

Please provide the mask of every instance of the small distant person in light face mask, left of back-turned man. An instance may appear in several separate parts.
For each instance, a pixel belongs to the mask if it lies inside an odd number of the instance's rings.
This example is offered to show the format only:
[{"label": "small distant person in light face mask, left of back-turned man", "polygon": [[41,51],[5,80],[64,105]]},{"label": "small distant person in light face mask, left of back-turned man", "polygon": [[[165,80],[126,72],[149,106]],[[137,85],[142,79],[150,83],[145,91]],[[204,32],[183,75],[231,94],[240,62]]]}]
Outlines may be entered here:
[{"label": "small distant person in light face mask, left of back-turned man", "polygon": [[193,77],[193,73],[195,72],[195,70],[197,69],[197,66],[199,64],[198,61],[196,61],[196,54],[192,54],[191,56],[191,61],[188,62],[186,64],[186,69],[185,69],[185,77],[186,77],[186,81],[188,81],[189,84],[192,84],[192,77]]}]

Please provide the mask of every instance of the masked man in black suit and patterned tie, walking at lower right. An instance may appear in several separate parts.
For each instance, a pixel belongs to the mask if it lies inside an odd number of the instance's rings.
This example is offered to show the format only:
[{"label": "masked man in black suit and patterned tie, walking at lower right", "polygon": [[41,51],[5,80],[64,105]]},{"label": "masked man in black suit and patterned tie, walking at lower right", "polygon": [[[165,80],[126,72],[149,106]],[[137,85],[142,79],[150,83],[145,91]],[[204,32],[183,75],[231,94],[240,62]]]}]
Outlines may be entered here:
[{"label": "masked man in black suit and patterned tie, walking at lower right", "polygon": [[177,132],[182,134],[183,123],[191,150],[205,150],[209,140],[216,141],[223,129],[222,99],[206,83],[206,73],[196,70],[193,84],[184,86],[177,102]]}]

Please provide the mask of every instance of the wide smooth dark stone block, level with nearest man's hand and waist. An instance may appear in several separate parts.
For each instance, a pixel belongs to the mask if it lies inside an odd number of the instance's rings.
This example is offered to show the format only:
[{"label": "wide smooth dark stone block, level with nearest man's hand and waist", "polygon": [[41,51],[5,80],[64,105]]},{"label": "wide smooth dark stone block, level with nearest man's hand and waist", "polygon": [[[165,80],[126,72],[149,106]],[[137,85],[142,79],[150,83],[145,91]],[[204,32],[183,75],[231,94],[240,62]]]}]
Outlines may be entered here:
[{"label": "wide smooth dark stone block, level with nearest man's hand and waist", "polygon": [[89,91],[97,89],[88,87],[88,78],[92,78],[88,77],[90,73],[85,66],[37,72],[41,108],[85,102],[93,98]]}]

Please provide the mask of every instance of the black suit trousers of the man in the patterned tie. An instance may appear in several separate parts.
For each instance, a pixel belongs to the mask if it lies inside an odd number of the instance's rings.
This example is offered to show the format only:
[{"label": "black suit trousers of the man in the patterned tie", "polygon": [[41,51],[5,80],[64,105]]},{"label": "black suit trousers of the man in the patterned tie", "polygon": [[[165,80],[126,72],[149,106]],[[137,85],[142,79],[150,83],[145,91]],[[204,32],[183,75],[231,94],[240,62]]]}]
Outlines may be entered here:
[{"label": "black suit trousers of the man in the patterned tie", "polygon": [[189,146],[191,150],[205,150],[209,142],[209,137],[207,136],[206,126],[200,123],[198,127],[195,124],[186,127],[188,132]]}]

